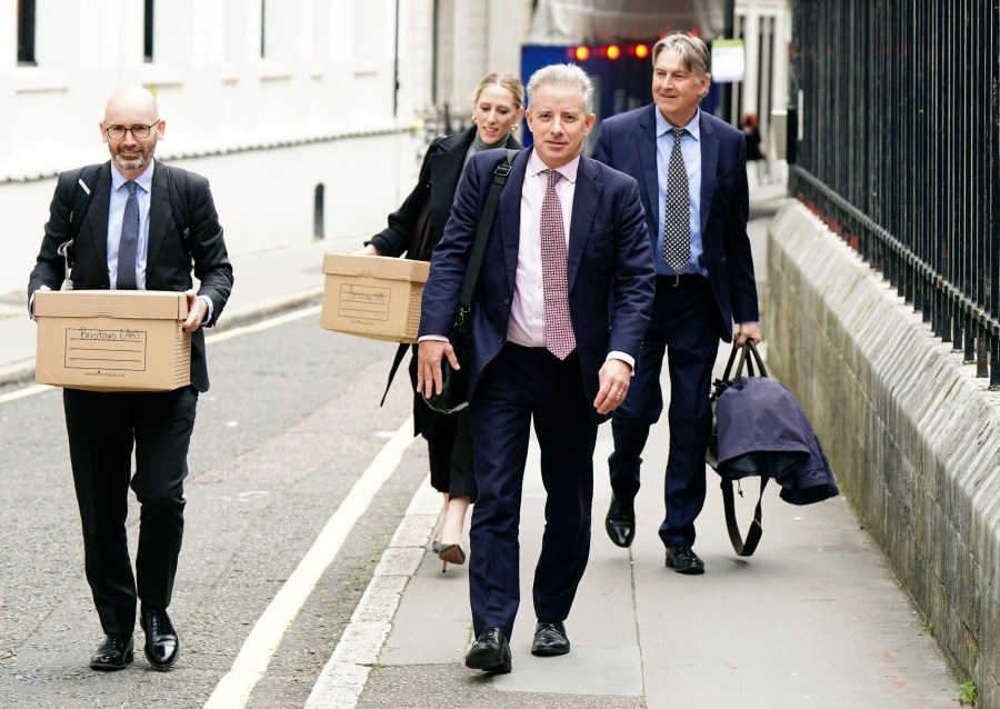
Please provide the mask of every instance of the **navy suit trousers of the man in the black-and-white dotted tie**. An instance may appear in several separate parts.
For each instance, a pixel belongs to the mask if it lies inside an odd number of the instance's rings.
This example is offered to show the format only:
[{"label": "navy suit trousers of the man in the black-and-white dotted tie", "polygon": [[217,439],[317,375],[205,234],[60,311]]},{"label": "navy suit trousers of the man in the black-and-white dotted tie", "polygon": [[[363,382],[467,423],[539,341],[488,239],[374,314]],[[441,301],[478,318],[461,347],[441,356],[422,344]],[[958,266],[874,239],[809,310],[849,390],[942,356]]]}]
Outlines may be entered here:
[{"label": "navy suit trousers of the man in the black-and-white dotted tie", "polygon": [[707,278],[657,278],[653,313],[629,393],[611,417],[614,452],[608,459],[611,489],[631,500],[640,486],[639,468],[649,429],[663,411],[660,371],[664,351],[670,375],[670,453],[660,526],[664,546],[694,543],[694,520],[704,505],[706,463],[712,429],[709,396],[719,350],[719,316]]}]

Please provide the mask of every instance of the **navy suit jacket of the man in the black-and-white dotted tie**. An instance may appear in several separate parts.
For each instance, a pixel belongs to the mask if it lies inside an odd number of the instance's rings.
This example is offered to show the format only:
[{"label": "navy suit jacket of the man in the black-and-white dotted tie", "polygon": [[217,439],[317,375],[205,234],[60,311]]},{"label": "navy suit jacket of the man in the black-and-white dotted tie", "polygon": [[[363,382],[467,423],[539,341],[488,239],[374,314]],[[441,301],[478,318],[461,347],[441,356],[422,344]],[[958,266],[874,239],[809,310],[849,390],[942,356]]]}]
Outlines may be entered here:
[{"label": "navy suit jacket of the man in the black-and-white dotted tie", "polygon": [[[656,103],[601,121],[593,159],[639,180],[649,238],[656,248],[663,216],[657,197]],[[750,211],[746,139],[729,123],[700,113],[702,267],[719,312],[720,337],[732,339],[732,321],[756,322],[757,279],[747,236]]]}]

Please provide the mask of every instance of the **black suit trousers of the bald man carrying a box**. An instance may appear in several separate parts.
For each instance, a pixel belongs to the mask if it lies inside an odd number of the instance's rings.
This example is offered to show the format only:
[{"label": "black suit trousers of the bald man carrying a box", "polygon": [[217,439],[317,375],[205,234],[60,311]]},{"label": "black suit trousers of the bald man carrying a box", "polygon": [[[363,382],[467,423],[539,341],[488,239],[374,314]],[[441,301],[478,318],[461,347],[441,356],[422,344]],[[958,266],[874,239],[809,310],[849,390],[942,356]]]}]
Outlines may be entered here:
[{"label": "black suit trousers of the bald man carrying a box", "polygon": [[[87,581],[106,633],[132,632],[137,596],[154,608],[170,605],[197,402],[191,386],[166,392],[63,392]],[[134,577],[126,535],[130,486],[140,505]]]}]

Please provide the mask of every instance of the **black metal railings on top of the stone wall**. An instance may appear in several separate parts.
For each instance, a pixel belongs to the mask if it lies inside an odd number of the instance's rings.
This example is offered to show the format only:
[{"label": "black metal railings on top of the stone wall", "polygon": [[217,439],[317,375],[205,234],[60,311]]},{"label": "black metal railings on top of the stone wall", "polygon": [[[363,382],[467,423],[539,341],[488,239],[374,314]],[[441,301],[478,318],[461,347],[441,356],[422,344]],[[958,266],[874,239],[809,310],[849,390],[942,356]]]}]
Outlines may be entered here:
[{"label": "black metal railings on top of the stone wall", "polygon": [[790,187],[1000,389],[1000,3],[799,0]]}]

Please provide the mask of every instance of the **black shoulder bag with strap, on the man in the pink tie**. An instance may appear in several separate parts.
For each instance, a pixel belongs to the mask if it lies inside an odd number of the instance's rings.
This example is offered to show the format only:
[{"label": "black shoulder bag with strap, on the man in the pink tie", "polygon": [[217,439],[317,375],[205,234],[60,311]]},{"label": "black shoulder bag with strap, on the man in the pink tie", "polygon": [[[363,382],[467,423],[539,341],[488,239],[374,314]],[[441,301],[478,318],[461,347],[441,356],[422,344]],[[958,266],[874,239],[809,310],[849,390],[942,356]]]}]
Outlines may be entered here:
[{"label": "black shoulder bag with strap, on the man in the pink tie", "polygon": [[454,313],[454,324],[451,326],[449,338],[460,369],[452,369],[448,359],[442,359],[441,393],[432,393],[429,397],[421,395],[427,406],[439,413],[454,413],[469,406],[469,369],[472,367],[472,294],[476,292],[476,282],[479,280],[479,271],[482,269],[482,257],[486,252],[487,238],[493,226],[493,216],[497,213],[500,190],[507,182],[511,162],[518,152],[518,150],[508,148],[507,160],[493,170],[493,181],[490,184],[490,192],[487,194],[482,216],[479,218],[479,227],[476,230],[476,241],[472,243],[472,253],[469,256],[469,266],[466,268],[466,278],[459,294],[459,307]]}]

